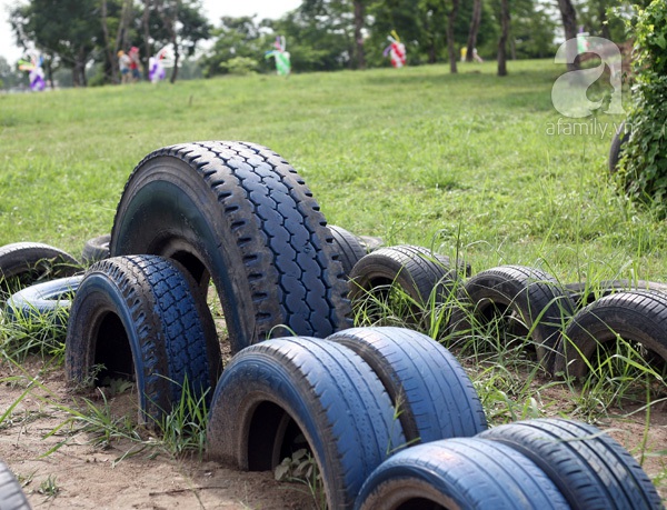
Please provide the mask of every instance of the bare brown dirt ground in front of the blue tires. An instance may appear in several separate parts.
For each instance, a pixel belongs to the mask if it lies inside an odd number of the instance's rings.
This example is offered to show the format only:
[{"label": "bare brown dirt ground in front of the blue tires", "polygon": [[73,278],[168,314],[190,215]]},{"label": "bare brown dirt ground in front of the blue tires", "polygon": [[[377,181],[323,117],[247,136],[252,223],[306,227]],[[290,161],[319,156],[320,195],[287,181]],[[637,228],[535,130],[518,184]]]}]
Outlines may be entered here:
[{"label": "bare brown dirt ground in front of the blue tires", "polygon": [[[28,362],[31,377],[39,373],[40,363]],[[26,390],[26,379],[17,368],[0,367],[0,417]],[[39,381],[51,392],[49,402],[71,404],[62,369],[39,373]],[[215,462],[175,460],[167,454],[151,458],[142,452],[120,462],[131,444],[112,443],[108,449],[93,447],[90,438],[79,434],[62,448],[44,456],[62,441],[66,430],[47,437],[68,414],[39,398],[43,390],[36,388],[10,417],[0,424],[0,459],[24,483],[24,492],[34,509],[310,509],[315,508],[308,488],[300,483],[278,483],[272,473],[248,473],[221,467]],[[119,397],[122,398],[122,397]],[[551,398],[551,396],[549,397]],[[567,401],[569,396],[561,392]],[[112,404],[115,402],[111,402]],[[556,412],[554,412],[556,413]],[[646,414],[609,419],[598,427],[608,430],[639,459]],[[667,448],[667,402],[651,410],[648,430],[648,452]],[[644,469],[651,477],[665,473],[667,454],[647,456]],[[663,498],[667,498],[667,480],[655,480]],[[52,489],[57,492],[51,494]]]}]

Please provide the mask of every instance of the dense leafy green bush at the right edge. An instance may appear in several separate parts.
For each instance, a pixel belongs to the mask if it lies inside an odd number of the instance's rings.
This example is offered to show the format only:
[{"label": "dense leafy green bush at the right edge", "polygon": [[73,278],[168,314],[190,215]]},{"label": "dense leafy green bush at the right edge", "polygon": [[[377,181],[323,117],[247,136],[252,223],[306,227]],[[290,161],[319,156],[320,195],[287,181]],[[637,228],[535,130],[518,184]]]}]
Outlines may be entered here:
[{"label": "dense leafy green bush at the right edge", "polygon": [[627,123],[631,126],[621,160],[630,197],[667,216],[667,0],[638,9],[629,22],[635,34],[635,86]]}]

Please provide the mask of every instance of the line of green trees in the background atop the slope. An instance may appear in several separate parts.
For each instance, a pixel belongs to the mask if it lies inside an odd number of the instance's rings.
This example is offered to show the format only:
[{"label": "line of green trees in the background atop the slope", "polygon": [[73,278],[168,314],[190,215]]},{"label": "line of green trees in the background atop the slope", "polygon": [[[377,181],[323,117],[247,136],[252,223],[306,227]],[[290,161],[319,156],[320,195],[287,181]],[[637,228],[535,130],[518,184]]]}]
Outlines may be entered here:
[{"label": "line of green trees in the background atop the slope", "polygon": [[[609,16],[629,0],[303,0],[280,19],[207,20],[200,0],[27,0],[9,16],[17,42],[44,59],[47,81],[67,71],[72,86],[117,83],[117,52],[132,46],[148,58],[166,44],[175,49],[177,77],[269,72],[263,53],[285,36],[297,71],[334,71],[388,66],[382,56],[396,30],[408,64],[449,62],[457,72],[461,48],[472,58],[548,58],[558,38],[579,27],[594,36],[625,40],[624,24]],[[646,2],[646,0],[641,0]],[[207,41],[207,50],[197,51]],[[183,68],[183,63],[186,67]],[[9,69],[8,69],[9,68]],[[146,73],[145,73],[146,74]],[[0,58],[6,83],[20,74]]]}]

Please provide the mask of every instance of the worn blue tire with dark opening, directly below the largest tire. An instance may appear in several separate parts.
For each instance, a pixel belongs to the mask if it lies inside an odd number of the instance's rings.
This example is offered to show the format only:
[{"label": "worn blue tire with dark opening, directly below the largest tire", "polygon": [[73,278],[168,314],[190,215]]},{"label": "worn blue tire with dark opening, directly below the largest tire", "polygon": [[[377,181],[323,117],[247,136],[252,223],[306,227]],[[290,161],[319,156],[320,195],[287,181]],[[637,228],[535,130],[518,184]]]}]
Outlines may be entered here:
[{"label": "worn blue tire with dark opening, directly below the largest tire", "polygon": [[332,509],[351,508],[370,472],[406,444],[370,367],[345,346],[300,337],[232,358],[216,388],[207,439],[209,458],[251,471],[272,470],[308,448]]}]

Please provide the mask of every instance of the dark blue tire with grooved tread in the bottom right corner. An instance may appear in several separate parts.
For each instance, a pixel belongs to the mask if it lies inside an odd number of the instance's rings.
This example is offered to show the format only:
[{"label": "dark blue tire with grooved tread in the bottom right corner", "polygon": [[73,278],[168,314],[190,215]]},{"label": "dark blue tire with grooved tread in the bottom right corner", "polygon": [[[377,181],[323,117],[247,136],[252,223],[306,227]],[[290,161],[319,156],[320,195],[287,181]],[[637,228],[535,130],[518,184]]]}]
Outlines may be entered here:
[{"label": "dark blue tire with grooved tread in the bottom right corner", "polygon": [[664,508],[633,456],[596,427],[559,418],[495,427],[479,439],[499,441],[535,462],[573,510]]}]

